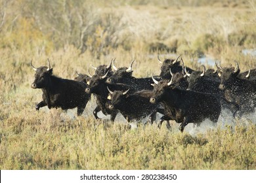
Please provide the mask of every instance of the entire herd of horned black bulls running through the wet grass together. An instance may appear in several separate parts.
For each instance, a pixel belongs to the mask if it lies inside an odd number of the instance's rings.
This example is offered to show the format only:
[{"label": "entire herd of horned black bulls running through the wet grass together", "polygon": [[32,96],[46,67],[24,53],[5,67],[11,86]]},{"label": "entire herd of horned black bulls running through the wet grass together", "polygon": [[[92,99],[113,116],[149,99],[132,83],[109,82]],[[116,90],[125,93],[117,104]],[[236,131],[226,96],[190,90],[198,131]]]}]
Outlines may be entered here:
[{"label": "entire herd of horned black bulls running through the wet grass together", "polygon": [[163,121],[175,120],[180,123],[181,132],[188,123],[198,124],[209,118],[217,123],[222,108],[230,110],[233,116],[241,117],[254,112],[256,106],[256,69],[240,73],[236,67],[208,69],[202,65],[202,71],[184,67],[181,56],[165,59],[161,63],[160,75],[148,78],[133,76],[133,61],[129,67],[114,65],[94,67],[94,75],[77,73],[74,80],[53,75],[53,68],[48,59],[48,67],[34,67],[35,80],[31,87],[41,88],[43,100],[35,107],[69,108],[77,107],[81,115],[91,99],[96,97],[93,115],[110,114],[114,122],[120,112],[127,122],[148,117],[148,122],[156,121],[156,114],[162,114],[158,127]]}]

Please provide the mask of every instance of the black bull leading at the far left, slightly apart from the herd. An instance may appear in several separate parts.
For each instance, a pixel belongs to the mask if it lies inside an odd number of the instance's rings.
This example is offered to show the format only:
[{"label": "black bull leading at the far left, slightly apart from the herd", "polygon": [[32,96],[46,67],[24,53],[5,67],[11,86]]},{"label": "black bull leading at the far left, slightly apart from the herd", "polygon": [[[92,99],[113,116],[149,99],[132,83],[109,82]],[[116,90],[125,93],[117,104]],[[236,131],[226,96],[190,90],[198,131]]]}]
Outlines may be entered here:
[{"label": "black bull leading at the far left, slightly apart from the herd", "polygon": [[41,88],[43,92],[43,101],[38,103],[35,109],[39,110],[45,106],[48,108],[60,107],[63,110],[77,107],[77,116],[81,115],[90,98],[90,95],[85,93],[87,85],[83,82],[53,76],[49,60],[48,63],[49,67],[35,68],[31,61],[35,70],[35,80],[31,87],[33,89]]}]

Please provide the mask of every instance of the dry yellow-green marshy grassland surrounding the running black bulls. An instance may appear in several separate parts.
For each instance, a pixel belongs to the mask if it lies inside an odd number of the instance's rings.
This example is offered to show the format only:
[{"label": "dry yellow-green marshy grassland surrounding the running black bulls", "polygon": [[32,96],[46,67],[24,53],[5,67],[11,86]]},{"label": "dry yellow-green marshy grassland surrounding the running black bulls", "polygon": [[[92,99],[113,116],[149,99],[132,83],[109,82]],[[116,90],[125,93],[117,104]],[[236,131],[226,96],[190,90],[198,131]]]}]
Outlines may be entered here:
[{"label": "dry yellow-green marshy grassland surrounding the running black bulls", "polygon": [[134,76],[158,75],[158,54],[182,54],[194,69],[203,56],[256,68],[243,53],[256,49],[255,1],[104,2],[0,0],[0,169],[256,169],[254,114],[223,111],[216,127],[206,121],[181,133],[175,122],[169,131],[129,129],[121,116],[95,120],[94,98],[79,117],[35,110],[42,92],[30,87],[32,58],[35,67],[49,58],[62,78],[112,58],[117,67],[136,59]]}]

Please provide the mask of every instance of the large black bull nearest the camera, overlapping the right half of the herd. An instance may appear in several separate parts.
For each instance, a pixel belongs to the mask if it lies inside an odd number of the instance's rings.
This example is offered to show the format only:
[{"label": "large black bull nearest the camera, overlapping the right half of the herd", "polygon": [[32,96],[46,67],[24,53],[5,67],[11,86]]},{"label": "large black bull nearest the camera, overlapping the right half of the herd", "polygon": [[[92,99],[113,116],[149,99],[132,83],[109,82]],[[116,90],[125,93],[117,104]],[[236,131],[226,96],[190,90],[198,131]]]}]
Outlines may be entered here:
[{"label": "large black bull nearest the camera, overlapping the right half of the herd", "polygon": [[[155,82],[155,80],[154,80]],[[206,118],[217,123],[221,113],[219,99],[209,93],[181,90],[171,85],[168,80],[155,82],[150,103],[162,103],[165,108],[163,119],[181,123],[179,129],[184,130],[188,123],[200,124]]]}]

